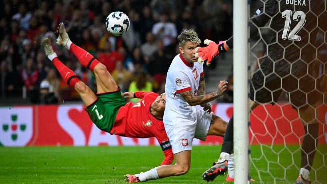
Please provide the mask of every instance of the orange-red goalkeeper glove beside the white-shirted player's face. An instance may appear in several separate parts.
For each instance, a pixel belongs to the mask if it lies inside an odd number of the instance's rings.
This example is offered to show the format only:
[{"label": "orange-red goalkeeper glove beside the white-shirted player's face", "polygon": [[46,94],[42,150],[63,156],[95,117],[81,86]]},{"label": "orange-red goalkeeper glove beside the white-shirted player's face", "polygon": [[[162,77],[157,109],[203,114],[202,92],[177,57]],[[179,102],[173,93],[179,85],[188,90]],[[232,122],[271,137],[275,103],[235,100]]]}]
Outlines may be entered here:
[{"label": "orange-red goalkeeper glove beside the white-shirted player's face", "polygon": [[[224,42],[225,41],[220,41],[219,44]],[[195,48],[195,51],[197,52],[195,53],[195,57],[198,58],[199,63],[207,60],[206,65],[209,66],[211,64],[211,60],[220,55],[218,49],[219,44],[208,39],[204,40],[203,43],[208,46]]]}]

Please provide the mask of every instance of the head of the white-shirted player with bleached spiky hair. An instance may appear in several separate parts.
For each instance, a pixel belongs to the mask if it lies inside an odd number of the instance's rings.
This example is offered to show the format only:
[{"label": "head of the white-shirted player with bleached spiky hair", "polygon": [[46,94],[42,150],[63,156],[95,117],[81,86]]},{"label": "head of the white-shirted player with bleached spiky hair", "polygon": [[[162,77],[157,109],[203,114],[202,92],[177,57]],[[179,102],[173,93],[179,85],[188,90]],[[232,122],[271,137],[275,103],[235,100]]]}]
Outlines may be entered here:
[{"label": "head of the white-shirted player with bleached spiky hair", "polygon": [[196,62],[198,59],[194,56],[195,48],[199,47],[201,40],[198,37],[198,34],[190,29],[184,30],[177,37],[179,44],[179,52],[183,57],[190,63]]}]

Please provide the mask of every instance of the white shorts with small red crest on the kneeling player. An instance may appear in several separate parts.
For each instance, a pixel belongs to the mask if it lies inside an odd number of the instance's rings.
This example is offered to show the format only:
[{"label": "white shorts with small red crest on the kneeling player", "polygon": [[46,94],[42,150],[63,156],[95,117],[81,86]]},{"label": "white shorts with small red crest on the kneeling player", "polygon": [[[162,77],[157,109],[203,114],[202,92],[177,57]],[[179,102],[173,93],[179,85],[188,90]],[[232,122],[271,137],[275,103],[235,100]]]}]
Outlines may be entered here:
[{"label": "white shorts with small red crest on the kneeling player", "polygon": [[174,154],[192,150],[193,138],[206,140],[212,120],[212,112],[207,113],[194,108],[193,113],[196,115],[196,120],[193,123],[190,120],[180,118],[175,119],[176,123],[174,125],[164,123]]}]

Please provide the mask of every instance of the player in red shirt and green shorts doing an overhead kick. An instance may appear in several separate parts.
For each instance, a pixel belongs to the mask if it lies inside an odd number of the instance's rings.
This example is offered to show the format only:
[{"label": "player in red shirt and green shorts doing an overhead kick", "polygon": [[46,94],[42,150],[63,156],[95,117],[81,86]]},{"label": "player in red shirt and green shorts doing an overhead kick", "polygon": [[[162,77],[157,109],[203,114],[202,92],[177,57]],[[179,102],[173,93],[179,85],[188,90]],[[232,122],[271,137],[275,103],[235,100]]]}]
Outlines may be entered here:
[{"label": "player in red shirt and green shorts doing an overhead kick", "polygon": [[[162,122],[165,93],[158,95],[154,92],[125,92],[122,95],[106,67],[90,53],[73,44],[62,23],[58,28],[57,43],[68,48],[83,66],[94,72],[97,94],[94,94],[72,70],[58,59],[52,49],[50,38],[44,38],[41,45],[65,82],[82,98],[86,106],[85,110],[93,123],[110,134],[133,138],[156,137],[165,154],[161,165],[171,164],[174,155]],[[134,97],[141,98],[141,100],[135,105],[125,102],[125,98]]]}]

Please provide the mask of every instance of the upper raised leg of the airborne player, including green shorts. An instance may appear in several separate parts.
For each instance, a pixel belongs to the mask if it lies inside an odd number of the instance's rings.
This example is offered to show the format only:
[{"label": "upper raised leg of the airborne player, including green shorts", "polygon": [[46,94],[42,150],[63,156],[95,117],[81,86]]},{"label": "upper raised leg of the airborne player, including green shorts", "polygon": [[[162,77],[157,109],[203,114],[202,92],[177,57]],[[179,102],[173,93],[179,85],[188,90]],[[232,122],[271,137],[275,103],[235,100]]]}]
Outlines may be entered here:
[{"label": "upper raised leg of the airborne player, including green shorts", "polygon": [[57,33],[57,43],[69,49],[84,67],[94,72],[97,99],[86,105],[86,111],[99,129],[110,132],[118,110],[126,104],[118,85],[102,63],[71,42],[63,23],[59,24]]}]

